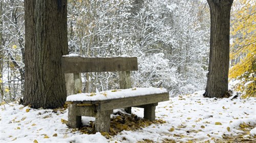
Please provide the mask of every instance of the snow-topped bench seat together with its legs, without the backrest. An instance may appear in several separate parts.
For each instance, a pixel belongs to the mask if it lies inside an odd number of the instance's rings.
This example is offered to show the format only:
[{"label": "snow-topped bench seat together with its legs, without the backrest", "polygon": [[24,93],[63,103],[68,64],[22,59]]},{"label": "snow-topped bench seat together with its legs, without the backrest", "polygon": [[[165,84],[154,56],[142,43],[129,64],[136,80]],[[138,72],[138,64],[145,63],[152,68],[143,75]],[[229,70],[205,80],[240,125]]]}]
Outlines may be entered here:
[{"label": "snow-topped bench seat together with its legs, without the backrest", "polygon": [[167,100],[169,94],[162,88],[133,88],[70,95],[66,101],[69,104],[68,126],[78,128],[81,126],[81,116],[91,116],[96,118],[96,131],[109,132],[113,109],[125,107],[142,107],[144,118],[155,120],[158,102]]}]

